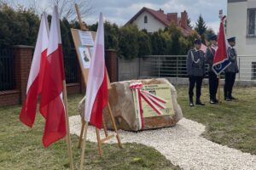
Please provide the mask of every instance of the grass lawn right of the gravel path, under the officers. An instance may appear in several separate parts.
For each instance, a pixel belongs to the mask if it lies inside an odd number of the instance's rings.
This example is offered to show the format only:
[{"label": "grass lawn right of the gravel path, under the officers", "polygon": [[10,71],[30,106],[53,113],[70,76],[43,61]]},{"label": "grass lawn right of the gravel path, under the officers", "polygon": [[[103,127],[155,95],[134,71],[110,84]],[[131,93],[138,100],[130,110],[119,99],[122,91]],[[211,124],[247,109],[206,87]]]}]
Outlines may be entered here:
[{"label": "grass lawn right of the gravel path, under the officers", "polygon": [[256,87],[235,87],[238,100],[221,105],[209,104],[208,87],[204,87],[201,100],[207,105],[194,108],[189,107],[187,87],[177,87],[177,94],[183,116],[206,125],[205,138],[256,155]]}]

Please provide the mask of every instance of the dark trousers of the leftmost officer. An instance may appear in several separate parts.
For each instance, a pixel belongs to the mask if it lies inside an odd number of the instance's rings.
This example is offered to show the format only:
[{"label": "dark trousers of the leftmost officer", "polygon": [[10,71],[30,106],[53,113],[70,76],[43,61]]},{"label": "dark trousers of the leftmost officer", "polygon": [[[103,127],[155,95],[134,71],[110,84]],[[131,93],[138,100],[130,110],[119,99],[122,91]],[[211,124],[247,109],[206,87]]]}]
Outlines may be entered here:
[{"label": "dark trousers of the leftmost officer", "polygon": [[199,100],[201,96],[201,83],[203,77],[189,76],[189,99],[193,100],[194,88],[196,83],[196,99]]}]

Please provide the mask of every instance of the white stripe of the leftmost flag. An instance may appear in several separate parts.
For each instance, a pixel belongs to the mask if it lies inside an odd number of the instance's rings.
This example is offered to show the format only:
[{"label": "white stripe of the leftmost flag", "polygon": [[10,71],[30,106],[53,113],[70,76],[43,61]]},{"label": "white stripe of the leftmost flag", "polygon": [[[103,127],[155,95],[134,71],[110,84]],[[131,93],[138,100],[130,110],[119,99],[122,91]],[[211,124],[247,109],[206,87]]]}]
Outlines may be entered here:
[{"label": "white stripe of the leftmost flag", "polygon": [[45,13],[42,15],[40,28],[38,31],[38,39],[36,43],[36,48],[33,54],[31,70],[29,73],[27,86],[26,86],[26,94],[28,93],[29,88],[32,83],[35,81],[36,77],[38,77],[40,71],[40,63],[41,63],[41,54],[47,49],[49,39],[49,26],[47,21],[47,16]]}]

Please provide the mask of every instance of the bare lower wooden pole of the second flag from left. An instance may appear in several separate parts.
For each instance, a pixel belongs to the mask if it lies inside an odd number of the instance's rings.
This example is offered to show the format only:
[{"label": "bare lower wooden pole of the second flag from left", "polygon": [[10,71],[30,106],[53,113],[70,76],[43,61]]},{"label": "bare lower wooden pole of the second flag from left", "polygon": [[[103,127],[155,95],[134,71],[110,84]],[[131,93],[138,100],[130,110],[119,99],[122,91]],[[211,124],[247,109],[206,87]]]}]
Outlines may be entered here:
[{"label": "bare lower wooden pole of the second flag from left", "polygon": [[64,94],[64,105],[65,105],[65,114],[66,114],[66,127],[67,127],[67,153],[68,153],[68,160],[70,169],[73,170],[73,156],[72,156],[72,145],[71,145],[71,138],[70,138],[70,129],[69,129],[69,120],[68,120],[68,108],[67,108],[67,87],[66,81],[63,82],[63,94]]}]

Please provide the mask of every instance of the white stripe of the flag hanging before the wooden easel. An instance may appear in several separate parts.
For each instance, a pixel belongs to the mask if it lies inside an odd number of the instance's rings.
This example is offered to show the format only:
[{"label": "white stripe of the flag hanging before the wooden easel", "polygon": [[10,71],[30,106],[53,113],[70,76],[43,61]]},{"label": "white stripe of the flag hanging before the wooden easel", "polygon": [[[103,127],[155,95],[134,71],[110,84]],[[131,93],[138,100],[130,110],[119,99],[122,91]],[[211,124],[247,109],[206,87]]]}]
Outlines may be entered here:
[{"label": "white stripe of the flag hanging before the wooden easel", "polygon": [[[101,56],[103,55],[103,56]],[[86,101],[84,107],[84,120],[90,122],[90,115],[94,105],[96,94],[102,86],[105,69],[104,26],[102,13],[96,32],[96,41],[93,57],[90,63],[88,84],[86,88]]]}]

